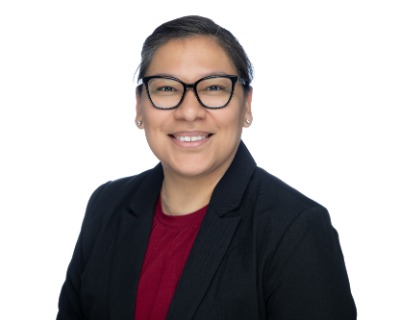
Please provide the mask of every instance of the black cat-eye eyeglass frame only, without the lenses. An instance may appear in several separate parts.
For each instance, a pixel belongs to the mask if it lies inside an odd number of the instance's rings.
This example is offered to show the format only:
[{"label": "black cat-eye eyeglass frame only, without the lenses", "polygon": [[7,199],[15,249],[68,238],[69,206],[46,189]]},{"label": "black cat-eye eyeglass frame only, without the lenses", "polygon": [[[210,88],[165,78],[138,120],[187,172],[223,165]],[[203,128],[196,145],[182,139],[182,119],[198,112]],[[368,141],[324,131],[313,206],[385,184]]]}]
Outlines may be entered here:
[{"label": "black cat-eye eyeglass frame only, without the lenses", "polygon": [[[207,80],[207,79],[213,79],[213,78],[227,78],[227,79],[230,79],[230,80],[232,81],[232,91],[231,91],[231,95],[230,95],[230,97],[229,97],[229,99],[228,99],[228,102],[225,103],[224,105],[218,106],[218,107],[209,107],[209,106],[206,106],[206,105],[201,101],[201,99],[200,99],[200,97],[199,97],[199,95],[198,95],[198,93],[197,93],[197,85],[198,85],[201,81]],[[178,102],[178,104],[177,104],[176,106],[174,106],[174,107],[169,107],[169,108],[160,108],[160,107],[157,107],[157,106],[154,104],[153,100],[151,99],[150,91],[149,91],[149,81],[152,80],[152,79],[169,79],[169,80],[177,81],[177,82],[179,82],[180,84],[182,84],[182,86],[183,86],[182,98],[181,98],[181,100],[179,100],[179,102]],[[244,87],[248,87],[248,86],[249,86],[248,82],[247,82],[246,80],[240,78],[239,76],[228,75],[228,74],[218,74],[218,75],[211,75],[211,76],[207,76],[207,77],[201,78],[201,79],[197,80],[197,81],[194,82],[194,83],[185,83],[185,82],[183,82],[182,80],[180,80],[180,79],[178,79],[178,78],[170,77],[170,76],[163,76],[163,75],[148,76],[148,77],[143,77],[143,78],[141,78],[141,79],[138,80],[138,87],[144,84],[144,86],[145,86],[145,88],[146,88],[147,98],[149,99],[151,105],[152,105],[154,108],[159,109],[159,110],[173,110],[173,109],[177,109],[177,108],[182,104],[183,100],[185,99],[186,91],[187,91],[188,89],[193,89],[193,92],[194,92],[194,95],[195,95],[197,101],[200,103],[200,105],[201,105],[203,108],[215,110],[215,109],[222,109],[222,108],[225,108],[225,107],[229,104],[229,102],[231,102],[232,97],[233,97],[233,94],[234,94],[234,92],[235,92],[235,84],[236,84],[236,82],[242,84]]]}]

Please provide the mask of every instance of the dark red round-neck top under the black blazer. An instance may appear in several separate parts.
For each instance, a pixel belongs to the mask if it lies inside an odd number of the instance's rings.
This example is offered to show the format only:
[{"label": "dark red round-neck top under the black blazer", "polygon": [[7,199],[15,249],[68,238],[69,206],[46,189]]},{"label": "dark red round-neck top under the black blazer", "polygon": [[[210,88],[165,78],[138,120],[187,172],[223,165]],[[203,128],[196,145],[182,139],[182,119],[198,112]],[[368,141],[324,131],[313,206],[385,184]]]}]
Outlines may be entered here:
[{"label": "dark red round-neck top under the black blazer", "polygon": [[157,202],[140,274],[135,320],[164,320],[207,207],[184,216],[162,212]]}]

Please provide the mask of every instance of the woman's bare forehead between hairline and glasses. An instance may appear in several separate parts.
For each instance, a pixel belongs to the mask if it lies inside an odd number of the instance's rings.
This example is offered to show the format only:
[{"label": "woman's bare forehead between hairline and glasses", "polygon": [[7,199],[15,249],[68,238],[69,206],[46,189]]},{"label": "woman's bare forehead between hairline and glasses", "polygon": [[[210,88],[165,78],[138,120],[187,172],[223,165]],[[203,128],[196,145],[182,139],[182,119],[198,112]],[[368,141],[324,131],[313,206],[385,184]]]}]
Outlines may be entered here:
[{"label": "woman's bare forehead between hairline and glasses", "polygon": [[225,50],[212,36],[172,39],[155,52],[146,75],[166,74],[193,81],[210,74],[237,74]]}]

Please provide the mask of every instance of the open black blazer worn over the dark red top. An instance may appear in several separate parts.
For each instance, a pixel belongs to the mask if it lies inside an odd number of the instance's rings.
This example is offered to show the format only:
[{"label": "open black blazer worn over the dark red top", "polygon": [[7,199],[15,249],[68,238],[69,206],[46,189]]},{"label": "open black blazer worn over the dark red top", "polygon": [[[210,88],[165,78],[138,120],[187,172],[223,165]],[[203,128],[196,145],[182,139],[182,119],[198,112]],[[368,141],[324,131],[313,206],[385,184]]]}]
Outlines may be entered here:
[{"label": "open black blazer worn over the dark red top", "polygon": [[[157,165],[93,193],[58,320],[133,320],[162,180]],[[356,319],[326,209],[258,168],[241,142],[211,197],[167,319]]]}]

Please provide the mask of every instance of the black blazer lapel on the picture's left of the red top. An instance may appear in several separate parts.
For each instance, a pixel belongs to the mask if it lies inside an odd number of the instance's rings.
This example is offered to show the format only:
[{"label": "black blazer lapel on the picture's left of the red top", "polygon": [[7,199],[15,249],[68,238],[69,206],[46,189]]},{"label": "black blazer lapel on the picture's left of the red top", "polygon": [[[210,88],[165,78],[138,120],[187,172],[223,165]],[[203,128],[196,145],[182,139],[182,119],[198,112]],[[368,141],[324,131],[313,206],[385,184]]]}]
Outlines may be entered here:
[{"label": "black blazer lapel on the picture's left of the red top", "polygon": [[136,188],[130,205],[122,209],[110,284],[110,319],[133,319],[137,285],[163,179],[161,166]]}]

